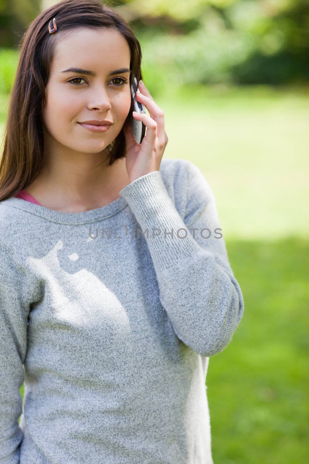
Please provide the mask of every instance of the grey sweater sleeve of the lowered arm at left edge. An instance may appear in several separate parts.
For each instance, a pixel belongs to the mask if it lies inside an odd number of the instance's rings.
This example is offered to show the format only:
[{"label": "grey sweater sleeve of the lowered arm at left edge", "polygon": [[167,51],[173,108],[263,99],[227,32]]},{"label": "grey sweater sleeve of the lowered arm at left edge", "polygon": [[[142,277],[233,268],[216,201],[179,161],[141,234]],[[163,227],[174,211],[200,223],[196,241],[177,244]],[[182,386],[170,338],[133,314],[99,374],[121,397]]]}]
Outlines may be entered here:
[{"label": "grey sweater sleeve of the lowered arm at left edge", "polygon": [[0,240],[0,463],[18,464],[23,432],[19,389],[24,382],[28,310],[25,272],[15,251]]}]

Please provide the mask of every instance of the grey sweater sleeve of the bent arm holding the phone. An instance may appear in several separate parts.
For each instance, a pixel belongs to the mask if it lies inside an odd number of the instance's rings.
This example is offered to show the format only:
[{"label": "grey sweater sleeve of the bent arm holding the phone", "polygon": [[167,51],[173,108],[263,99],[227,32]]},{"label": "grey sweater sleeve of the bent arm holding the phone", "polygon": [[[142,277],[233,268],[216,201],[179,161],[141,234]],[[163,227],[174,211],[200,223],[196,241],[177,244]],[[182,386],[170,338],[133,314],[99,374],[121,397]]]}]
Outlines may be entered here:
[{"label": "grey sweater sleeve of the bent arm holding the phone", "polygon": [[120,195],[147,241],[160,301],[175,334],[198,354],[213,356],[231,341],[244,301],[228,261],[214,194],[200,169],[183,161],[187,174],[178,192],[187,192],[184,219],[160,171],[134,180]]}]

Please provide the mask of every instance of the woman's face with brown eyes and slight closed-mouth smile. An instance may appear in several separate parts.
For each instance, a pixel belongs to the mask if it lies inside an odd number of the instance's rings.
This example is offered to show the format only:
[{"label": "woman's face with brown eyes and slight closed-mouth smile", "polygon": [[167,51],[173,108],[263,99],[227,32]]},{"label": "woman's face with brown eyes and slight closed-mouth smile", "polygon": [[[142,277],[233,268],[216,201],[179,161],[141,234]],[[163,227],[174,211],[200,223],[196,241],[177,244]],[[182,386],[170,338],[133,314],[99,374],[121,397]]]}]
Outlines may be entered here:
[{"label": "woman's face with brown eyes and slight closed-mouth smile", "polygon": [[[131,106],[130,72],[113,72],[121,68],[130,68],[130,49],[116,30],[74,29],[59,38],[42,118],[51,146],[56,142],[74,151],[99,153],[113,142]],[[80,124],[89,120],[113,124],[107,132],[93,132]]]}]

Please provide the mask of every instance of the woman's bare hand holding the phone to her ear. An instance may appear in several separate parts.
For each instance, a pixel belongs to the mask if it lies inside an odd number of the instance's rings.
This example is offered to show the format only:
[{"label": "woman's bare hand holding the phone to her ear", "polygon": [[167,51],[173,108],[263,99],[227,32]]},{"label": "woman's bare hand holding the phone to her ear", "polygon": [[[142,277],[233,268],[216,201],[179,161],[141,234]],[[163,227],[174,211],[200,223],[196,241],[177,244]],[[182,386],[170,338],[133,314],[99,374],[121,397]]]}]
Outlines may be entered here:
[{"label": "woman's bare hand holding the phone to her ear", "polygon": [[139,177],[158,171],[162,156],[168,142],[164,130],[164,112],[154,102],[145,84],[139,81],[139,90],[136,92],[136,100],[142,103],[149,111],[150,116],[145,114],[135,114],[133,117],[138,121],[143,121],[147,131],[142,143],[136,143],[130,124],[124,127],[126,137],[126,170],[130,182]]}]

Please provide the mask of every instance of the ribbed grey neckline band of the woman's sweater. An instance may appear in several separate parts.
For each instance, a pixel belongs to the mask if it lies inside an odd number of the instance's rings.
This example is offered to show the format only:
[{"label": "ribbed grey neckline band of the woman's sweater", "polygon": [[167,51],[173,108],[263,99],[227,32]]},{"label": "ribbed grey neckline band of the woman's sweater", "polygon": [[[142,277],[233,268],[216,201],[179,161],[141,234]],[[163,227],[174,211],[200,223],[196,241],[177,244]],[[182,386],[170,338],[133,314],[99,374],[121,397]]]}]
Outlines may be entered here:
[{"label": "ribbed grey neckline band of the woman's sweater", "polygon": [[35,214],[41,218],[47,219],[51,222],[57,222],[58,224],[66,224],[70,226],[79,226],[82,224],[91,224],[96,221],[108,219],[114,214],[119,213],[125,208],[128,203],[122,196],[116,198],[108,205],[101,206],[101,208],[95,208],[88,211],[82,211],[79,213],[64,213],[61,211],[55,211],[45,206],[31,203],[30,201],[23,200],[21,198],[10,197],[6,200],[2,200],[0,205],[12,206],[18,208],[27,213]]}]

